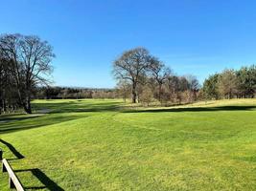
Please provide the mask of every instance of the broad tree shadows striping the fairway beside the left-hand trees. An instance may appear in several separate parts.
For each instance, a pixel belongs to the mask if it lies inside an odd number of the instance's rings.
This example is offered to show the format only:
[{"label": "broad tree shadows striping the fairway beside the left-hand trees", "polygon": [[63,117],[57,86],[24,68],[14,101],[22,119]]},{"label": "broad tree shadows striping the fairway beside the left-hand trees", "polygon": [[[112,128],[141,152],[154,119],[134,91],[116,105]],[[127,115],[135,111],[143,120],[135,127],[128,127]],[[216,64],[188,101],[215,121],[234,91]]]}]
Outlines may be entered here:
[{"label": "broad tree shadows striping the fairway beside the left-hand trees", "polygon": [[[117,111],[120,109],[118,101],[87,102],[81,100],[34,103],[36,111],[49,110],[49,114],[33,115],[5,115],[0,116],[0,134],[28,130],[46,125],[53,125],[81,117],[79,113]],[[72,113],[72,115],[69,115]],[[77,114],[76,114],[77,113]],[[63,114],[63,115],[62,115]]]}]

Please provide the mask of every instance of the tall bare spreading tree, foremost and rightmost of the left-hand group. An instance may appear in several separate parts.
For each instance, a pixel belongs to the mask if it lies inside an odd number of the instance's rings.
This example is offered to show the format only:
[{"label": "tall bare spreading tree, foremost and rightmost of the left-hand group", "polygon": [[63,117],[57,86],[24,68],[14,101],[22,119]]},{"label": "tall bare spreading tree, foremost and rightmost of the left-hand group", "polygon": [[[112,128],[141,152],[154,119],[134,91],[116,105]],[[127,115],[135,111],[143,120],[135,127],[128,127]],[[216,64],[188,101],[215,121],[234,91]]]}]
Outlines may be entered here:
[{"label": "tall bare spreading tree, foremost and rightmost of the left-hand group", "polygon": [[53,48],[39,37],[21,34],[5,34],[0,37],[0,49],[12,65],[19,102],[26,113],[31,114],[33,89],[38,84],[48,84],[52,72]]}]

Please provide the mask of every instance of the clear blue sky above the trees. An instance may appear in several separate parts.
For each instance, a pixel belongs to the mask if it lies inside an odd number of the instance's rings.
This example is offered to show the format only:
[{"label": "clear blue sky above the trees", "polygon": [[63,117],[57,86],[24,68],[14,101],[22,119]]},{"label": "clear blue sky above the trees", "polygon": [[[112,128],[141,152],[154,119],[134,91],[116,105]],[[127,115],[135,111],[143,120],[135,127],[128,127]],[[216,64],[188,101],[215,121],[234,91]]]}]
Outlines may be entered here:
[{"label": "clear blue sky above the trees", "polygon": [[115,86],[112,61],[143,46],[200,82],[256,63],[256,1],[0,0],[0,33],[36,34],[54,47],[55,85]]}]

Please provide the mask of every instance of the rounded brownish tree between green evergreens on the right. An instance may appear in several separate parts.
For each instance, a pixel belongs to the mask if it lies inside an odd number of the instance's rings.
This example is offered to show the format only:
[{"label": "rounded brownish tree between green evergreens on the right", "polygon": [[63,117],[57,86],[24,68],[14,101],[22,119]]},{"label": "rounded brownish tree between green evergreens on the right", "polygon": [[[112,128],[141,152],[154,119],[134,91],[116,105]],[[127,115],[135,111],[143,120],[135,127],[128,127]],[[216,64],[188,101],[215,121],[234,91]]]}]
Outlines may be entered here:
[{"label": "rounded brownish tree between green evergreens on the right", "polygon": [[237,94],[238,79],[234,70],[224,70],[218,79],[218,87],[221,96],[228,99]]}]

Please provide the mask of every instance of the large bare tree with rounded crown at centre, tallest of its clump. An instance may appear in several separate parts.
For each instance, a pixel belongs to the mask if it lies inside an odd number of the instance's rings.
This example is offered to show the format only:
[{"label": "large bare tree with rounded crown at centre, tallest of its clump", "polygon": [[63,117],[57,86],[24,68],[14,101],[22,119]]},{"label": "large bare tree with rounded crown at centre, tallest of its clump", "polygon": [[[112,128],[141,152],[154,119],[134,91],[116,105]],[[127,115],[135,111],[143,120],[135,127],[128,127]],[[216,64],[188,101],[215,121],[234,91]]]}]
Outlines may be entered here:
[{"label": "large bare tree with rounded crown at centre, tallest of its clump", "polygon": [[113,74],[118,80],[131,82],[132,103],[137,100],[137,86],[149,69],[151,55],[145,48],[135,48],[123,53],[113,63]]}]

